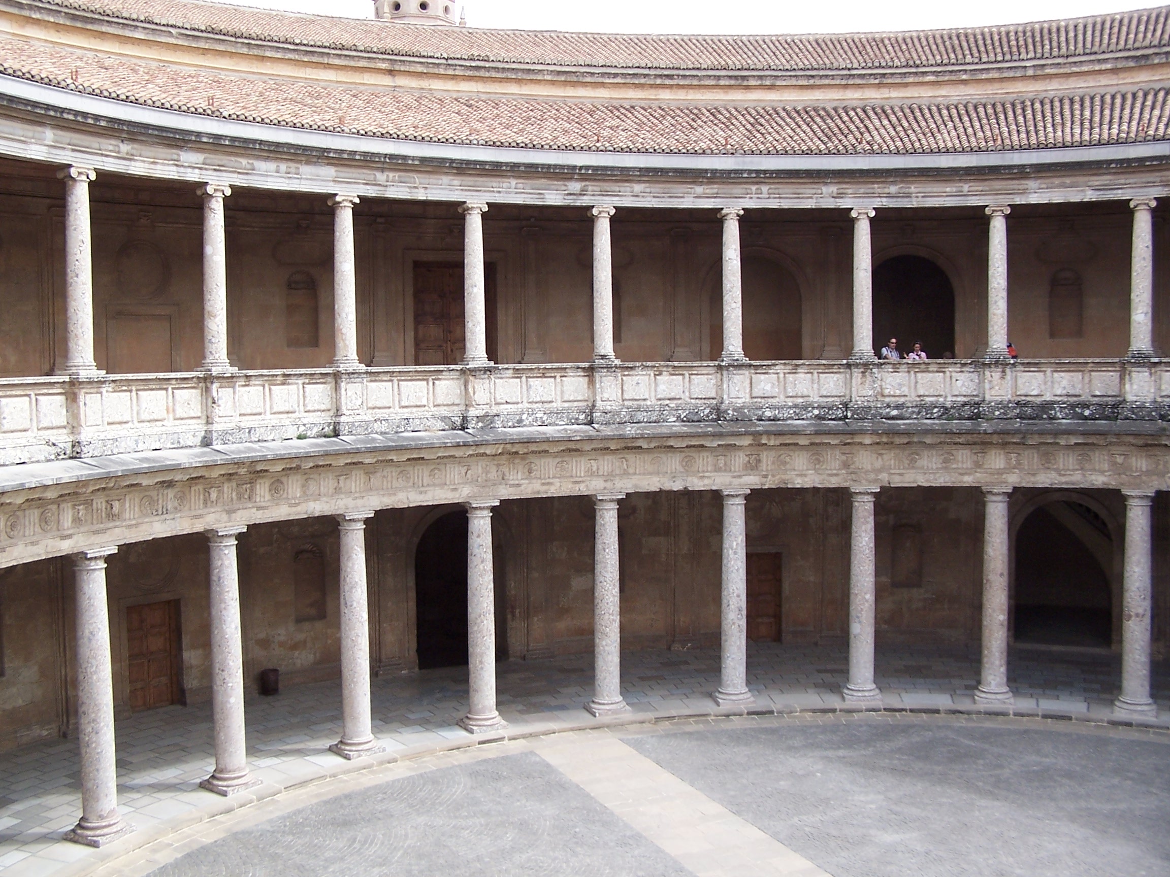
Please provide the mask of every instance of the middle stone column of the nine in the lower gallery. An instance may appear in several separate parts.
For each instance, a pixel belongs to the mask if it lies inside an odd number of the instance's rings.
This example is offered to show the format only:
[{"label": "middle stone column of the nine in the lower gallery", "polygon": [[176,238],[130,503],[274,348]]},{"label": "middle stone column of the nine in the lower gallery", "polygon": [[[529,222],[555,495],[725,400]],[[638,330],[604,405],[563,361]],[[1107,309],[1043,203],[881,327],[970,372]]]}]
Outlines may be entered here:
[{"label": "middle stone column of the nine in the lower gallery", "polygon": [[593,497],[593,699],[594,716],[628,712],[621,697],[621,594],[618,569],[618,500],[625,493]]}]

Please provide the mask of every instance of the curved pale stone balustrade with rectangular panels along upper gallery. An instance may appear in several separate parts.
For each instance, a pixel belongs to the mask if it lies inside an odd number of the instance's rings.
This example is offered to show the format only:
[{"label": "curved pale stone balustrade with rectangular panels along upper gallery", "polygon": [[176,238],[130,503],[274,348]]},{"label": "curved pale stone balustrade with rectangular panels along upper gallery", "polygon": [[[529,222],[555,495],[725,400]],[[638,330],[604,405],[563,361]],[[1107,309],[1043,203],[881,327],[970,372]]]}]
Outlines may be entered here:
[{"label": "curved pale stone balustrade with rectangular panels along upper gallery", "polygon": [[330,435],[704,421],[1170,420],[1170,361],[652,362],[0,380],[0,464]]}]

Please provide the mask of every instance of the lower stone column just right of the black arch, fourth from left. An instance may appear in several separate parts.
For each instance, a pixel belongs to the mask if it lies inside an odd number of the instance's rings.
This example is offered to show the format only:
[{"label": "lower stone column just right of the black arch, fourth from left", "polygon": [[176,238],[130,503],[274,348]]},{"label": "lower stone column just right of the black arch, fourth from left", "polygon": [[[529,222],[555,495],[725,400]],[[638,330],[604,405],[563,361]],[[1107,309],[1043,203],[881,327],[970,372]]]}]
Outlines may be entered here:
[{"label": "lower stone column just right of the black arch, fourth from left", "polygon": [[496,587],[491,510],[500,500],[467,503],[467,681],[470,710],[459,724],[473,734],[508,727],[496,711]]}]

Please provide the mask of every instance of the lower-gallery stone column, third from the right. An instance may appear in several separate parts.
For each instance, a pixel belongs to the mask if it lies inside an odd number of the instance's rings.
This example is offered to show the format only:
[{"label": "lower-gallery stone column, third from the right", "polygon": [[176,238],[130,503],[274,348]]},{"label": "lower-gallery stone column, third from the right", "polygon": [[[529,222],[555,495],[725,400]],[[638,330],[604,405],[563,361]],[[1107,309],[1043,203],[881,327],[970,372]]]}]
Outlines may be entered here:
[{"label": "lower-gallery stone column, third from the right", "polygon": [[849,682],[846,700],[881,703],[874,685],[874,500],[878,488],[851,488],[853,533],[849,545]]}]

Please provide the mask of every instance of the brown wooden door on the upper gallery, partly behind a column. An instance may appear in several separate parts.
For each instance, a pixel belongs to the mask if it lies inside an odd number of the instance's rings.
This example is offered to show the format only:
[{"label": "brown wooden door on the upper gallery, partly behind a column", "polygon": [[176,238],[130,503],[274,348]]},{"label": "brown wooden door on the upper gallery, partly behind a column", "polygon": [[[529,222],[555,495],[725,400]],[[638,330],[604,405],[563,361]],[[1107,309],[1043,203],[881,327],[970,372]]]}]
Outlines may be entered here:
[{"label": "brown wooden door on the upper gallery, partly behind a column", "polygon": [[[496,265],[483,269],[488,359],[496,359]],[[463,263],[414,263],[414,365],[463,361]]]}]

